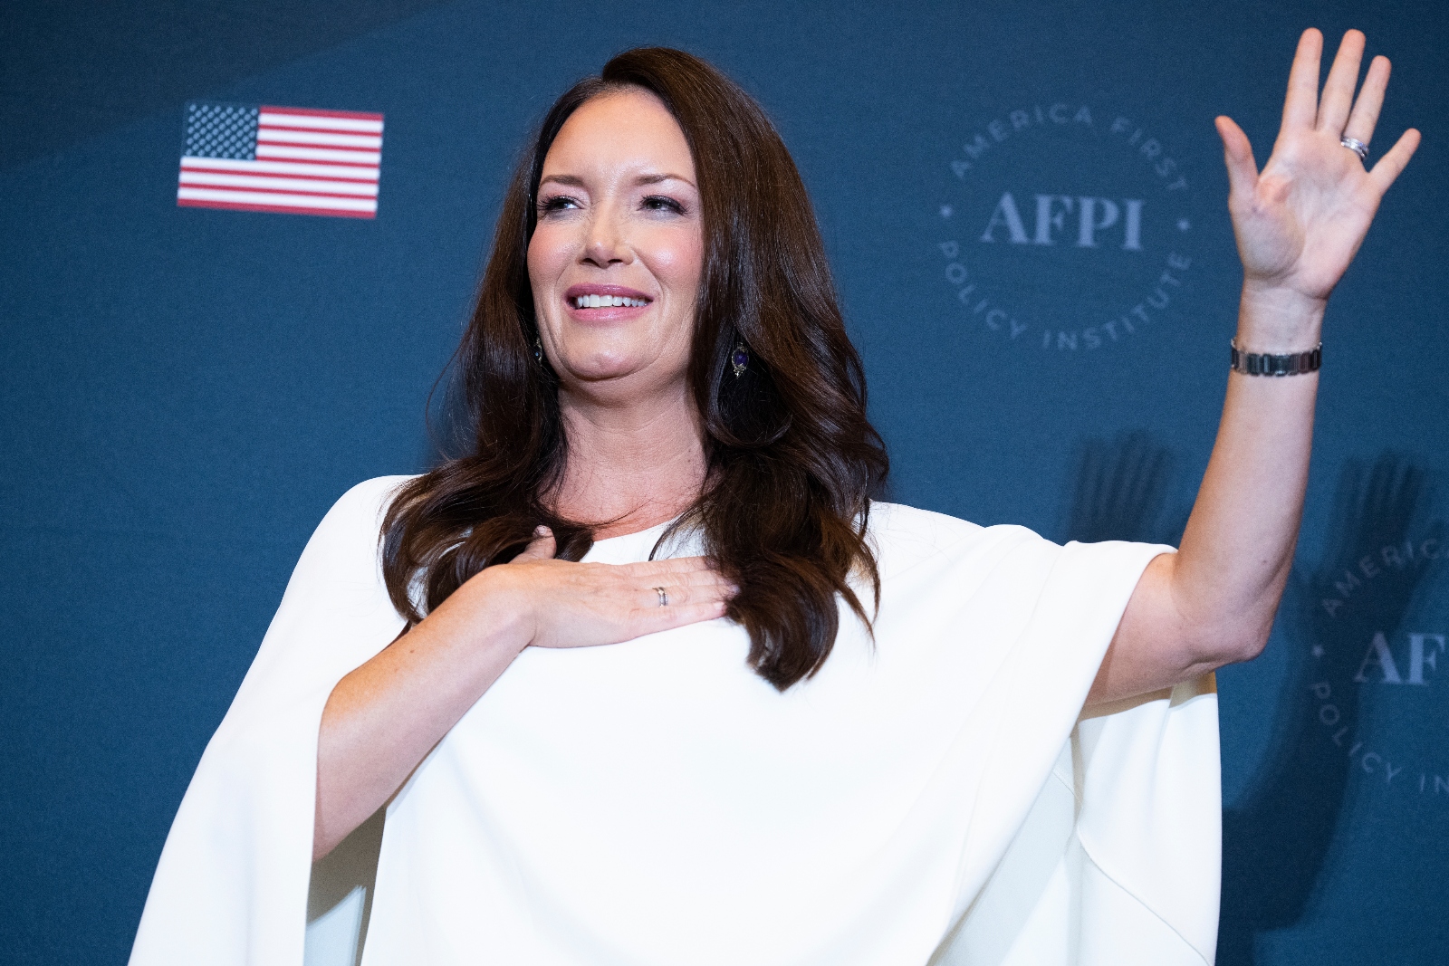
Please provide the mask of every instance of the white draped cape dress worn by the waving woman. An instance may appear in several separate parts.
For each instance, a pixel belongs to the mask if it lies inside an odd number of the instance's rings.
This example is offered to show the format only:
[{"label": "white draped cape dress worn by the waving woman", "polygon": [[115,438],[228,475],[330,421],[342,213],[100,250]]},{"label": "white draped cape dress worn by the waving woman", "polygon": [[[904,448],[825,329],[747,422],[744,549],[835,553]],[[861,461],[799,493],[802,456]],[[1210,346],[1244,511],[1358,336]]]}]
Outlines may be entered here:
[{"label": "white draped cape dress worn by the waving woman", "polygon": [[[317,726],[401,629],[378,568],[401,481],[351,490],[303,552],[181,802],[132,966],[329,956],[304,953]],[[1211,678],[1082,715],[1171,547],[881,503],[869,534],[874,642],[843,610],[824,668],[784,694],[726,620],[526,650],[388,804],[361,962],[1211,963]],[[588,559],[646,559],[658,536]]]}]

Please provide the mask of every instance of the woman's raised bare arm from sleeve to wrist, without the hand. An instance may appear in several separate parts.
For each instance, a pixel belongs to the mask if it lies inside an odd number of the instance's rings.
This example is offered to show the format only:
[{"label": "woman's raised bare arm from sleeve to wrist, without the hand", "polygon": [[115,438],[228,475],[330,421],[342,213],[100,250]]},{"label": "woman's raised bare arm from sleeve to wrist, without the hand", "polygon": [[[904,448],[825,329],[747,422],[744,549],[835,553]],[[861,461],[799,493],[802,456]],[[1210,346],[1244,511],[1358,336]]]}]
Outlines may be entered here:
[{"label": "woman's raised bare arm from sleeve to wrist, without the hand", "polygon": [[[1321,300],[1248,284],[1237,346],[1304,352],[1317,345],[1321,320]],[[1317,388],[1316,372],[1229,372],[1181,549],[1143,572],[1088,704],[1158,691],[1262,650],[1298,539]]]}]

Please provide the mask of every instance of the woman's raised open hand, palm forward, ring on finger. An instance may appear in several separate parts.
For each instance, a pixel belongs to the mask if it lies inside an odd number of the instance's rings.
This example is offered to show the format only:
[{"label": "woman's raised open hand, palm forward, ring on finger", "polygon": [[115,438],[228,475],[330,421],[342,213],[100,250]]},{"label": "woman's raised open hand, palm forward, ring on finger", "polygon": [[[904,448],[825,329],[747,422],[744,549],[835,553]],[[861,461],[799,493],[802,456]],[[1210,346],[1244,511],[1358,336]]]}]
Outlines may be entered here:
[{"label": "woman's raised open hand, palm forward, ring on finger", "polygon": [[1388,85],[1388,58],[1374,58],[1355,100],[1364,35],[1343,35],[1320,97],[1321,54],[1323,35],[1304,30],[1288,75],[1282,127],[1262,174],[1242,127],[1229,117],[1217,119],[1245,285],[1320,306],[1348,271],[1388,185],[1419,146],[1419,132],[1408,129],[1365,169],[1340,138],[1372,143]]}]

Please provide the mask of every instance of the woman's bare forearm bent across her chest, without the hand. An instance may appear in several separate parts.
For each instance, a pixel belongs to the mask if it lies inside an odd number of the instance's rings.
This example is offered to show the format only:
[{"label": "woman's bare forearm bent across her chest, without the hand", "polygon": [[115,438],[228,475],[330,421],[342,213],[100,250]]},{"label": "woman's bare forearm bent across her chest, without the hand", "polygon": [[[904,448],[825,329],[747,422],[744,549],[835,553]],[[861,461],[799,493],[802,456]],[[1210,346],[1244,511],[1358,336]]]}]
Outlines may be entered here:
[{"label": "woman's bare forearm bent across her chest, without the hand", "polygon": [[313,860],[407,781],[527,636],[487,572],[332,689],[317,734]]}]

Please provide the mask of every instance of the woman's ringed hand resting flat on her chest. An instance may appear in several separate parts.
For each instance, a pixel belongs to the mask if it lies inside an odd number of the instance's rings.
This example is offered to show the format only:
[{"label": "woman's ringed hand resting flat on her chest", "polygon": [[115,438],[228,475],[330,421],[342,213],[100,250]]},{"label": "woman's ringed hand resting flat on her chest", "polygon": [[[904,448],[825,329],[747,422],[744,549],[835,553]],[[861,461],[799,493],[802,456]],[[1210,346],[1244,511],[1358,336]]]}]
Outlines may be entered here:
[{"label": "woman's ringed hand resting flat on her chest", "polygon": [[[467,595],[480,591],[514,616],[520,650],[614,644],[713,620],[739,591],[703,556],[571,563],[555,560],[554,553],[554,534],[539,527],[523,553],[459,588]],[[475,582],[477,588],[469,587]]]}]

